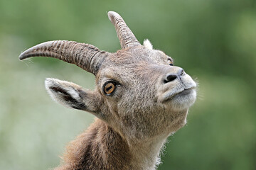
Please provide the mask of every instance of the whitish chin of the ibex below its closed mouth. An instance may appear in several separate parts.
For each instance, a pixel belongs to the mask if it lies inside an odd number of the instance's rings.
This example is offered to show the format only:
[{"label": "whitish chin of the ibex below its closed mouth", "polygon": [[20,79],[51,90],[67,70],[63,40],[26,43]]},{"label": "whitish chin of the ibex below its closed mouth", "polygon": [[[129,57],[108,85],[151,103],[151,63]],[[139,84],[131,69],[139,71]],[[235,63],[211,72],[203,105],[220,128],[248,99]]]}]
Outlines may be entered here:
[{"label": "whitish chin of the ibex below its closed mouth", "polygon": [[169,104],[174,111],[188,109],[196,101],[196,89],[187,89],[171,98]]}]

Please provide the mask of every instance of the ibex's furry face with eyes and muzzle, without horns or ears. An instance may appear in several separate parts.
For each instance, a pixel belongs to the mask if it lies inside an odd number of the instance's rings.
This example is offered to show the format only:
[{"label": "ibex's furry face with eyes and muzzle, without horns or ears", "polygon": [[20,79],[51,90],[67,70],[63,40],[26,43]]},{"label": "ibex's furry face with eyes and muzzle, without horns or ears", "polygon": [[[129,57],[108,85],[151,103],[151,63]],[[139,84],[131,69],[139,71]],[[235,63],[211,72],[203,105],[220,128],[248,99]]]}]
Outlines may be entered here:
[{"label": "ibex's furry face with eyes and muzzle, without horns or ears", "polygon": [[196,83],[171,57],[144,46],[107,57],[96,77],[107,122],[142,140],[178,130],[196,100]]}]

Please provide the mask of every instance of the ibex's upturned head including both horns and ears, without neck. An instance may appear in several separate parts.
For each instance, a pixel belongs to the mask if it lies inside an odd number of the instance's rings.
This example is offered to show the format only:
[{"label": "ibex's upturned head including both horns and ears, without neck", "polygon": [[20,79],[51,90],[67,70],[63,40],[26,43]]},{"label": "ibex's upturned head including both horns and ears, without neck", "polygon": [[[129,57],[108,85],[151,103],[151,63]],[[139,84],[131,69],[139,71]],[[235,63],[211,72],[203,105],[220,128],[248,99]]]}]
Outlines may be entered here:
[{"label": "ibex's upturned head including both horns and ears, without neck", "polygon": [[115,53],[93,45],[56,40],[22,52],[28,57],[54,57],[91,72],[96,89],[58,79],[46,79],[53,100],[69,108],[90,112],[122,136],[149,140],[169,135],[186,123],[188,108],[196,100],[196,83],[173,59],[154,50],[149,40],[141,45],[118,13],[108,13],[122,47]]}]

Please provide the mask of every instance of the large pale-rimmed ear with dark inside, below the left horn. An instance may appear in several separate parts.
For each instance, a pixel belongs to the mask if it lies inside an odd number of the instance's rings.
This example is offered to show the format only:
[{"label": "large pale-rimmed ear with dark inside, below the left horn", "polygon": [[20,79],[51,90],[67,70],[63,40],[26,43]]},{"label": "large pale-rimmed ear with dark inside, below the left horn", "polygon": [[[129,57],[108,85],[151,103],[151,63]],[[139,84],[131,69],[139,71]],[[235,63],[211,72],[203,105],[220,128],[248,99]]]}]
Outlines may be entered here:
[{"label": "large pale-rimmed ear with dark inside, below the left horn", "polygon": [[93,91],[85,91],[81,86],[59,79],[46,79],[48,94],[63,106],[88,111],[96,116],[100,112],[100,97]]}]

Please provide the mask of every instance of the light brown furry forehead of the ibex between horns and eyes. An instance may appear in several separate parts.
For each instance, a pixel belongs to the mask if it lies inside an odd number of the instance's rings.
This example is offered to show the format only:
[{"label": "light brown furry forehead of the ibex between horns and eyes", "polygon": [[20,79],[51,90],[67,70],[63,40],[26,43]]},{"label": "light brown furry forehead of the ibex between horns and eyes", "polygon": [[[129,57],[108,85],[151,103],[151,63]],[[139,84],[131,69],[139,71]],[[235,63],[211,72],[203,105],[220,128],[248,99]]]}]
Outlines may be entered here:
[{"label": "light brown furry forehead of the ibex between horns and eyes", "polygon": [[171,58],[159,50],[149,50],[146,47],[137,47],[132,50],[119,50],[106,57],[97,74],[97,81],[107,77],[124,78],[132,74],[145,74],[152,71],[152,67],[168,64]]}]

